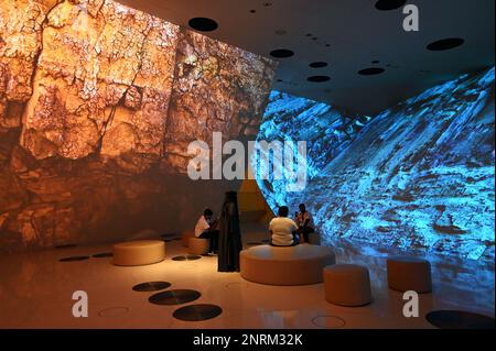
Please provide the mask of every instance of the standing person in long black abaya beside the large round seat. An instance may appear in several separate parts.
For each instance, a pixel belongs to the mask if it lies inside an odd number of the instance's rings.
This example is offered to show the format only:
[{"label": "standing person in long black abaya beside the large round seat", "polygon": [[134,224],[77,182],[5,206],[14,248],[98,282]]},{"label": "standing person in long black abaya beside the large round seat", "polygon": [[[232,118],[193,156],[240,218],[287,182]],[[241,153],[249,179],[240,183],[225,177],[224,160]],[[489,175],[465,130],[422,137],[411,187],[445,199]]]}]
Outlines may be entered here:
[{"label": "standing person in long black abaya beside the large round seat", "polygon": [[242,249],[236,191],[226,193],[218,223],[218,272],[239,272],[239,252]]}]

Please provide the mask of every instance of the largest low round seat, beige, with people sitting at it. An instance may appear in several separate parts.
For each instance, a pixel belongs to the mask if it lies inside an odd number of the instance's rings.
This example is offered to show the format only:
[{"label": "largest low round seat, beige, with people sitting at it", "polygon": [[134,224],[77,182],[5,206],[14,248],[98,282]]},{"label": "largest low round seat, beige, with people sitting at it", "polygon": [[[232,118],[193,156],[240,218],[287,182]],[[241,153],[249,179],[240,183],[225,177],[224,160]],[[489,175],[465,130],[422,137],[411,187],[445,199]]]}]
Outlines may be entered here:
[{"label": "largest low round seat, beige, with people sitting at it", "polygon": [[322,283],[322,270],[336,263],[333,249],[311,244],[288,248],[252,246],[240,253],[240,274],[268,285]]}]

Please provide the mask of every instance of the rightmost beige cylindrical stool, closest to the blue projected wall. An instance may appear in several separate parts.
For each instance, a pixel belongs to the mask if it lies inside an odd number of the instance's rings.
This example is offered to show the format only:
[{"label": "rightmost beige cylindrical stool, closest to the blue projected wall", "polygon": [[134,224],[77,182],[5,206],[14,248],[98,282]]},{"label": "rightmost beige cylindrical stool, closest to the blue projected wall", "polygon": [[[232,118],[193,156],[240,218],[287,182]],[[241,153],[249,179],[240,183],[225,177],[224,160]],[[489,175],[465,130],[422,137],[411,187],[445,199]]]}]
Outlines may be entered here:
[{"label": "rightmost beige cylindrical stool, closest to the blue projected wall", "polygon": [[431,264],[417,257],[390,257],[387,261],[388,285],[398,292],[418,294],[432,290]]}]

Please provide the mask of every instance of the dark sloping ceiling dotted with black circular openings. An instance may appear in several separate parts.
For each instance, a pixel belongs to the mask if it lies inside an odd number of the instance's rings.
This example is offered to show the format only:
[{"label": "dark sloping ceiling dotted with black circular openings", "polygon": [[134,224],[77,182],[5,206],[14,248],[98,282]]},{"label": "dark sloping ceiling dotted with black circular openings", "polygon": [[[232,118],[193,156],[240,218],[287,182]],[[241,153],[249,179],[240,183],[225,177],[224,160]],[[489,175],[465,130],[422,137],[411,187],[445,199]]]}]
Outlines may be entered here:
[{"label": "dark sloping ceiling dotted with black circular openings", "polygon": [[[184,26],[193,18],[213,19],[217,26],[204,23],[211,31],[203,34],[267,57],[276,50],[292,51],[294,55],[278,58],[273,89],[366,114],[462,73],[494,65],[494,0],[407,1],[420,10],[419,32],[403,30],[402,7],[377,9],[400,6],[401,0],[119,2]],[[443,39],[462,39],[463,44],[445,51],[427,48]],[[327,65],[311,67],[312,63]]]}]

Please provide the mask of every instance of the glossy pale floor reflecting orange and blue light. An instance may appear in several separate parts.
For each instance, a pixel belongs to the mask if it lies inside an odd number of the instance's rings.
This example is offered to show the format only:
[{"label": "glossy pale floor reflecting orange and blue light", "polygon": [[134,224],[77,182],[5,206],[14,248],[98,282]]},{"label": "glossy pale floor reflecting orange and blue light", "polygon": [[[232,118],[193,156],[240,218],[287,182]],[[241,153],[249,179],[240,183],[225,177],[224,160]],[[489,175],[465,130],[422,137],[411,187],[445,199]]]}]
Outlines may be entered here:
[{"label": "glossy pale floor reflecting orange and blue light", "polygon": [[[261,232],[244,241],[265,239]],[[424,315],[435,309],[462,309],[494,317],[494,265],[433,259],[434,292],[420,297],[420,317],[405,318],[402,294],[386,284],[387,253],[362,251],[343,243],[338,263],[370,270],[374,303],[345,308],[324,299],[322,284],[281,287],[244,281],[238,273],[218,273],[216,256],[173,261],[186,254],[180,241],[166,243],[166,260],[148,266],[118,267],[111,257],[60,262],[91,256],[111,245],[54,249],[0,257],[0,328],[433,328]],[[170,282],[168,289],[194,289],[190,304],[159,306],[148,301],[157,292],[134,292],[145,282]],[[165,289],[165,290],[168,290]],[[89,317],[74,318],[73,293],[88,294]],[[217,305],[222,314],[205,321],[182,321],[173,312],[193,304]]]}]

